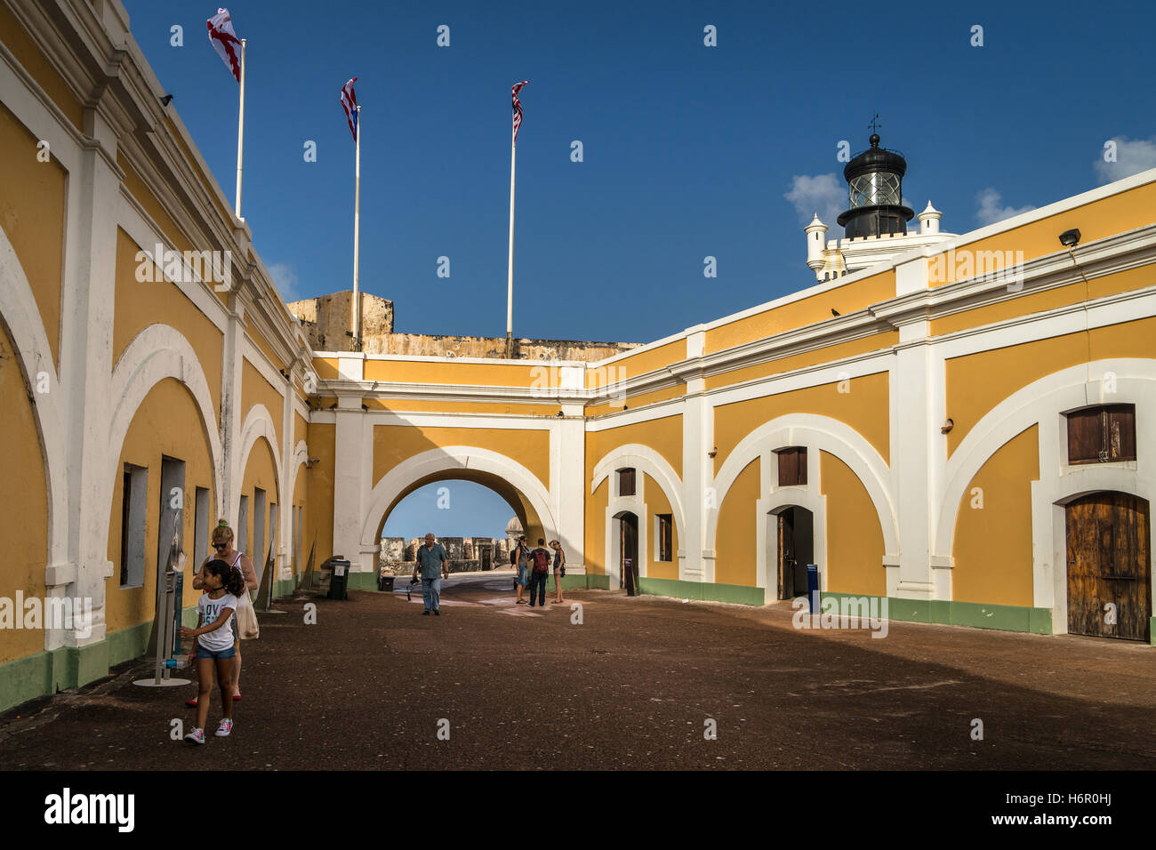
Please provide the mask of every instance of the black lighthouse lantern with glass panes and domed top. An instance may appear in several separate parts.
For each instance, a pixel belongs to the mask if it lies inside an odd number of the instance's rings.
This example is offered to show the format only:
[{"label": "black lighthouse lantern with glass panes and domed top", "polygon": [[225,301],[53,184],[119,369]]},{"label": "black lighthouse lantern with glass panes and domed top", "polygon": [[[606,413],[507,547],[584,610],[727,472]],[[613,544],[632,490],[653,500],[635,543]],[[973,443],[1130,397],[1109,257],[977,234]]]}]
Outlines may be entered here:
[{"label": "black lighthouse lantern with glass panes and domed top", "polygon": [[898,150],[879,146],[872,133],[870,147],[857,154],[843,169],[851,206],[838,222],[849,239],[881,234],[906,234],[916,210],[903,206],[903,176],[907,161]]}]

